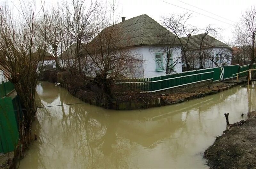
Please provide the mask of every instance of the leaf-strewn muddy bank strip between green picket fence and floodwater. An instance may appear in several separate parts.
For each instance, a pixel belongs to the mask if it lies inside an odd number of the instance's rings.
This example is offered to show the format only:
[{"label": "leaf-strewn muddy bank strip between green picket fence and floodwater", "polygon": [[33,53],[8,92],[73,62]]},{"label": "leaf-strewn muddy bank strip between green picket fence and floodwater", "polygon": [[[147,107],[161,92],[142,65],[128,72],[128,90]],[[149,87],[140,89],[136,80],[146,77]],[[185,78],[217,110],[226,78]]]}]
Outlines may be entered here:
[{"label": "leaf-strewn muddy bank strip between green picket fence and floodwater", "polygon": [[78,97],[82,101],[101,106],[107,109],[115,110],[133,110],[133,109],[147,109],[151,107],[159,107],[171,104],[182,103],[196,98],[217,94],[229,88],[233,88],[238,83],[225,82],[204,82],[184,87],[173,88],[172,90],[164,90],[156,93],[138,93],[138,92],[124,92],[118,93],[112,99],[109,105],[106,101],[98,101],[95,94],[87,90],[72,91],[68,85],[61,84],[61,87],[66,88],[73,96]]}]

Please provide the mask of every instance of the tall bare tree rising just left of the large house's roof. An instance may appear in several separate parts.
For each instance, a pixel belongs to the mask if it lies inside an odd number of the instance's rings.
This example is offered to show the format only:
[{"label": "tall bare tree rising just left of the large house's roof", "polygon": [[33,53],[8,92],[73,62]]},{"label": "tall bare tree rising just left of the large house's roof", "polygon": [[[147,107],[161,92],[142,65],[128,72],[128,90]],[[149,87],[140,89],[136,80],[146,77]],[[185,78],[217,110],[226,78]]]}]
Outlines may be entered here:
[{"label": "tall bare tree rising just left of the large house's roof", "polygon": [[65,58],[69,68],[78,70],[80,74],[86,69],[86,64],[82,63],[86,63],[87,59],[83,50],[92,40],[98,8],[97,2],[86,4],[85,0],[72,0],[71,4],[63,4],[61,8],[65,26]]}]

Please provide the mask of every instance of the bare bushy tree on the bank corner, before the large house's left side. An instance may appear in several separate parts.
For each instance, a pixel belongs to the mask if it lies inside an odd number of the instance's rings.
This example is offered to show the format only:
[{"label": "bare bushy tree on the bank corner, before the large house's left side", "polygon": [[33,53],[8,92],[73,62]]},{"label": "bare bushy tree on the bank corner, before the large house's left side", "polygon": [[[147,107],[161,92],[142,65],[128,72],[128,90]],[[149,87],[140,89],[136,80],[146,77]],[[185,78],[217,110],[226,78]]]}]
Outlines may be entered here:
[{"label": "bare bushy tree on the bank corner, before the large house's left side", "polygon": [[134,76],[142,63],[137,54],[127,48],[129,39],[122,39],[122,29],[116,25],[115,3],[111,5],[112,14],[108,14],[106,9],[98,15],[95,36],[86,49],[94,65],[94,81],[108,101],[116,92],[115,80]]}]

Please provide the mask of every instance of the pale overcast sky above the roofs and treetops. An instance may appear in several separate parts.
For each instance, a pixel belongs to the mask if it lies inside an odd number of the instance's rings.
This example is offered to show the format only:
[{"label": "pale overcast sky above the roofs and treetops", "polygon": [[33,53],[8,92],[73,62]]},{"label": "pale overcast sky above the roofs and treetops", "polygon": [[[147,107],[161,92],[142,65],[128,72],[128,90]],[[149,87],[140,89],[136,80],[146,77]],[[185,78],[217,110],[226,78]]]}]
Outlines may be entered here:
[{"label": "pale overcast sky above the roofs and treetops", "polygon": [[[4,1],[5,0],[0,0],[1,3]],[[7,2],[12,1],[15,0],[7,0]],[[38,3],[40,2],[40,0],[36,1],[38,1]],[[62,1],[63,0],[45,0],[45,4],[46,6],[55,6],[57,5],[57,2]],[[108,2],[108,0],[105,0],[104,2]],[[112,0],[110,2],[112,2]],[[116,0],[116,3],[118,4],[117,12],[120,13],[121,17],[125,16],[126,19],[130,19],[141,14],[147,14],[158,23],[161,23],[162,16],[168,16],[172,13],[192,13],[190,24],[198,28],[204,28],[209,24],[213,27],[221,28],[221,32],[219,31],[219,40],[223,42],[232,41],[233,25],[236,22],[239,22],[241,13],[250,9],[252,6],[256,6],[256,0]]]}]

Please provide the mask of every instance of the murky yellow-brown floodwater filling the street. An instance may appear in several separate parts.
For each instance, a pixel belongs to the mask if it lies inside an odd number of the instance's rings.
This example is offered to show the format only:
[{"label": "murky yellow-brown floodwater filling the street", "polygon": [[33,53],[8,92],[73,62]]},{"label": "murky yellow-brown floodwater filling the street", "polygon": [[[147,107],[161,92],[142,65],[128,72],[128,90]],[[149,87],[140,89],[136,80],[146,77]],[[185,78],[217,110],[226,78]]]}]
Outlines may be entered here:
[{"label": "murky yellow-brown floodwater filling the street", "polygon": [[[39,82],[38,106],[82,103],[67,90]],[[114,111],[90,104],[41,108],[20,169],[209,168],[203,152],[226,129],[255,110],[254,85],[146,110]],[[244,119],[246,116],[244,116]]]}]

